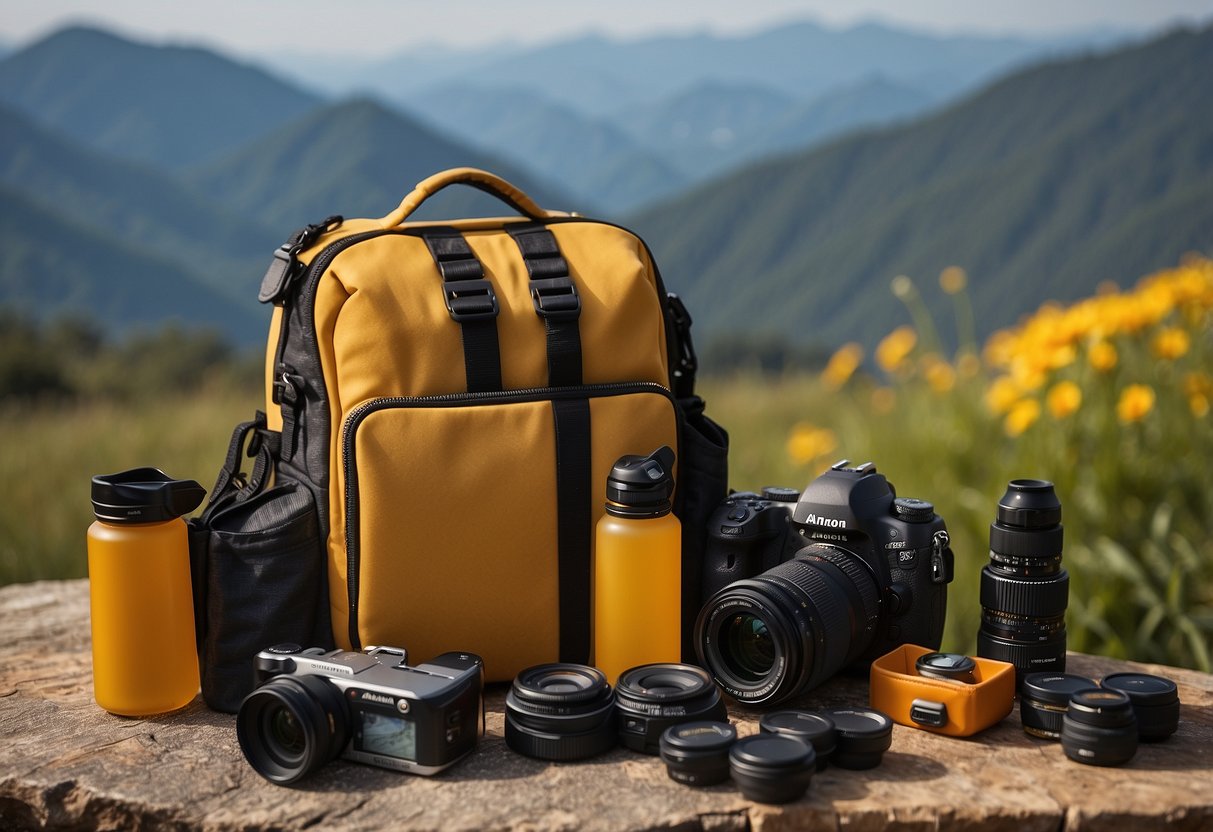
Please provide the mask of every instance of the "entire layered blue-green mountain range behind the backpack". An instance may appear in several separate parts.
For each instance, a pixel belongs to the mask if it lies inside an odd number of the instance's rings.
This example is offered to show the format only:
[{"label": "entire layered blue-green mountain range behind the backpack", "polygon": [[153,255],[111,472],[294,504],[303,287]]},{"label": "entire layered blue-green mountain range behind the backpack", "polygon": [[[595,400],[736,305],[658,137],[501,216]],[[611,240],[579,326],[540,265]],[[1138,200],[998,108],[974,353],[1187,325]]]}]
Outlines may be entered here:
[{"label": "entire layered blue-green mountain range behind the backpack", "polygon": [[[780,36],[809,44],[811,34],[787,27]],[[776,35],[752,40],[774,55]],[[889,38],[843,40],[871,51],[883,39],[896,53]],[[930,297],[932,275],[952,263],[969,269],[989,330],[1044,297],[1075,297],[1213,245],[1209,38],[1177,33],[1054,58],[980,89],[967,85],[1014,63],[1012,46],[1027,47],[936,39],[947,61],[922,58],[911,72],[910,58],[885,56],[836,73],[843,86],[820,95],[748,65],[683,85],[683,67],[602,114],[505,64],[479,78],[450,55],[415,56],[428,91],[408,93],[412,112],[382,91],[334,98],[205,50],[72,28],[0,59],[0,303],[38,314],[96,308],[120,327],[147,319],[147,298],[180,287],[189,300],[166,301],[166,314],[254,343],[263,326],[247,324],[262,317],[251,298],[294,228],[331,213],[380,216],[425,176],[473,165],[549,207],[630,212],[704,338],[871,341],[904,315],[887,290],[893,274],[918,278]],[[660,72],[654,44],[685,61],[704,42],[719,49],[716,40],[616,44],[616,63]],[[611,41],[577,42],[590,57],[570,76],[604,65],[594,50]],[[820,69],[822,56],[837,57],[831,49],[805,63]],[[962,73],[955,61],[966,50],[978,57]],[[562,55],[553,45],[513,58],[534,68]],[[943,65],[952,67],[950,93],[930,80]],[[968,92],[956,98],[956,89]],[[471,189],[426,207],[428,217],[502,211]]]}]

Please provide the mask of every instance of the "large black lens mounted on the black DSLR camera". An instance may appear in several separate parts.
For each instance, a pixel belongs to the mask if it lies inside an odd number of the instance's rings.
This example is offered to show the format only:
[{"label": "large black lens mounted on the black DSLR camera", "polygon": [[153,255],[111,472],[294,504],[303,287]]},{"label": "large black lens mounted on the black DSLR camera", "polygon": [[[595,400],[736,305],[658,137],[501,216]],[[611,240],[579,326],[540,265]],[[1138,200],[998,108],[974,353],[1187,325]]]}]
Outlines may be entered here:
[{"label": "large black lens mounted on the black DSLR camera", "polygon": [[879,614],[871,569],[828,543],[716,593],[695,623],[695,649],[721,686],[746,703],[810,690],[867,648]]}]

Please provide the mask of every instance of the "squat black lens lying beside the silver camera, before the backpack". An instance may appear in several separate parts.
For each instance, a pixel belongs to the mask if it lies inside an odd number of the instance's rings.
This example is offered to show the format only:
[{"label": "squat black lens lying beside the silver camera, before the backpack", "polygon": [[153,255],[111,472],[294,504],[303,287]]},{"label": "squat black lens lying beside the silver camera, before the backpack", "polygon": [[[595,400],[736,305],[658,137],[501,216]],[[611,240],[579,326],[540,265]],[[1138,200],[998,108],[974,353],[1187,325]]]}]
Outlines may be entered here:
[{"label": "squat black lens lying beside the silver camera, before the backpack", "polygon": [[597,667],[528,667],[506,694],[506,745],[519,754],[568,762],[615,746],[615,691]]}]

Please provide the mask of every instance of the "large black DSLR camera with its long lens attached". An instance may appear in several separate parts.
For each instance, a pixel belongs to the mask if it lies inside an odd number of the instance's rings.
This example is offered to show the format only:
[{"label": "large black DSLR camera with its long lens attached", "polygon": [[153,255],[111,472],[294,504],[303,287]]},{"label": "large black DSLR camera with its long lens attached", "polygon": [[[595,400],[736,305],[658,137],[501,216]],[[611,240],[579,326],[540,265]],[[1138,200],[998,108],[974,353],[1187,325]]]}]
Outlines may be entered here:
[{"label": "large black DSLR camera with its long lens attached", "polygon": [[695,649],[724,690],[775,703],[901,644],[939,649],[952,549],[934,506],[866,462],[734,494],[710,520]]}]

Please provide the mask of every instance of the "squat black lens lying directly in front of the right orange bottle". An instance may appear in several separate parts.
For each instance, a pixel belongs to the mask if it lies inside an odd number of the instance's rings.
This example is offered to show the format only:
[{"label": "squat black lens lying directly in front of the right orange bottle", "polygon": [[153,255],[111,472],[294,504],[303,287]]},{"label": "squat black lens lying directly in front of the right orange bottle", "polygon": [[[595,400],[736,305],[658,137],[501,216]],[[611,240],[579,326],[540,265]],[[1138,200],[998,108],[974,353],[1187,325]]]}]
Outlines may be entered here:
[{"label": "squat black lens lying directly in front of the right orange bottle", "polygon": [[661,735],[687,722],[724,722],[721,689],[694,665],[640,665],[620,674],[615,685],[619,740],[632,751],[656,754]]}]

